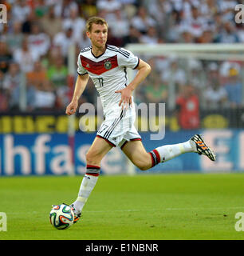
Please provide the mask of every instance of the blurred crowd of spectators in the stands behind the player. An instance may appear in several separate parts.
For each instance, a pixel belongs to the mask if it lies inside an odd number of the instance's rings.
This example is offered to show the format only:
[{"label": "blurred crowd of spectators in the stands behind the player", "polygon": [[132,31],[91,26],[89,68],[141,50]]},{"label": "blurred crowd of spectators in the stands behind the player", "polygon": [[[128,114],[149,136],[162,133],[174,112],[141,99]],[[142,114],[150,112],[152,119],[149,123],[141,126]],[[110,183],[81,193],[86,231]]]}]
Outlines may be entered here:
[{"label": "blurred crowd of spectators in the stands behind the player", "polygon": [[[67,56],[90,46],[85,21],[108,21],[108,44],[244,43],[244,26],[234,22],[242,0],[9,0],[7,23],[0,24],[0,112],[19,110],[22,74],[26,111],[63,111],[69,102]],[[195,106],[242,106],[243,62],[184,62],[150,58],[152,74],[136,91],[137,103],[167,102],[170,81],[176,84],[177,110],[191,98]],[[95,102],[89,82],[81,102]]]}]

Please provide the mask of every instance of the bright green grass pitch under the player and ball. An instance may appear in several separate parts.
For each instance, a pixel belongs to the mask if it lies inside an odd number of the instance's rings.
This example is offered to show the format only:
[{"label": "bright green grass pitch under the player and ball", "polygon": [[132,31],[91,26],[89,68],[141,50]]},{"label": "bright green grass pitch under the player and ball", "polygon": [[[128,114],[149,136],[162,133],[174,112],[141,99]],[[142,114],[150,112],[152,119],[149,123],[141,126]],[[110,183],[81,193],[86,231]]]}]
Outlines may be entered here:
[{"label": "bright green grass pitch under the player and ball", "polygon": [[6,239],[164,240],[244,238],[244,174],[100,176],[82,219],[69,230],[49,223],[52,204],[71,203],[82,176],[2,177]]}]

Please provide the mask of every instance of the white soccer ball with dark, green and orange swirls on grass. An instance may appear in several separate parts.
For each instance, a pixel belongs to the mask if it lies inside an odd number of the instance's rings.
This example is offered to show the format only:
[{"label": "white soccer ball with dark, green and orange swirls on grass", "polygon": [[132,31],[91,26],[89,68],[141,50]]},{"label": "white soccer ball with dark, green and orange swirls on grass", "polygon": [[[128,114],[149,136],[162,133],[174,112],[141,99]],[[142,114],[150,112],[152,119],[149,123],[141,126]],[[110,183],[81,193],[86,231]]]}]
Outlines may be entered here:
[{"label": "white soccer ball with dark, green and orange swirls on grass", "polygon": [[57,230],[65,230],[73,225],[73,210],[64,204],[53,206],[50,211],[49,219],[51,224],[57,228]]}]

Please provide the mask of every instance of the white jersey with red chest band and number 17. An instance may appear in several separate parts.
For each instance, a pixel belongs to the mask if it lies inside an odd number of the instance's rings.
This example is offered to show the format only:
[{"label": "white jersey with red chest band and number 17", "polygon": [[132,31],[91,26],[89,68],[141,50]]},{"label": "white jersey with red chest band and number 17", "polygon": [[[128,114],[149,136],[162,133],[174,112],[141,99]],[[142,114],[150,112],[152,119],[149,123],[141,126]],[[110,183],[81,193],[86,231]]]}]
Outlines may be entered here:
[{"label": "white jersey with red chest band and number 17", "polygon": [[92,46],[81,50],[78,56],[77,72],[80,75],[89,74],[104,109],[104,115],[108,110],[118,104],[121,94],[116,90],[122,90],[128,85],[127,68],[136,69],[140,58],[132,52],[107,45],[104,54],[96,57],[92,54]]}]

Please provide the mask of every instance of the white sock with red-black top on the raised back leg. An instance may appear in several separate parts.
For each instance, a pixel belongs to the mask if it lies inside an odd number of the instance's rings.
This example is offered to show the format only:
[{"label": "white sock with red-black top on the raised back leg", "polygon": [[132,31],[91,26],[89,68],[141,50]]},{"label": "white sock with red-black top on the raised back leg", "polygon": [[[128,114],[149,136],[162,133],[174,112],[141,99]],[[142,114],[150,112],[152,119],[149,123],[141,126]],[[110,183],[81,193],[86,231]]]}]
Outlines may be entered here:
[{"label": "white sock with red-black top on the raised back leg", "polygon": [[166,162],[179,156],[180,154],[187,152],[195,152],[195,149],[191,145],[190,141],[173,145],[159,146],[150,153],[152,154],[152,158],[155,160],[155,164],[158,164],[159,162]]}]

